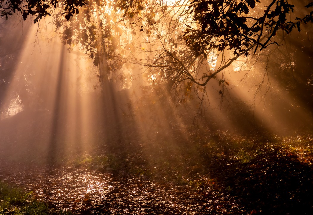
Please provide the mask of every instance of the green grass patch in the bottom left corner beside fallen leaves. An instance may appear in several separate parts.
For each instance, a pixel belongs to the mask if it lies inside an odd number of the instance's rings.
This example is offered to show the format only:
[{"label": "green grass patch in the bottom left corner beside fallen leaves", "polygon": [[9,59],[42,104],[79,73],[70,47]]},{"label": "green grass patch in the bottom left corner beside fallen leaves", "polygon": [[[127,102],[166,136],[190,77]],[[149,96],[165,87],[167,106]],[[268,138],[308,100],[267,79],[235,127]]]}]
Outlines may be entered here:
[{"label": "green grass patch in the bottom left corner beside fallen leaves", "polygon": [[0,182],[0,215],[73,215],[49,207],[49,204],[37,201],[32,192]]}]

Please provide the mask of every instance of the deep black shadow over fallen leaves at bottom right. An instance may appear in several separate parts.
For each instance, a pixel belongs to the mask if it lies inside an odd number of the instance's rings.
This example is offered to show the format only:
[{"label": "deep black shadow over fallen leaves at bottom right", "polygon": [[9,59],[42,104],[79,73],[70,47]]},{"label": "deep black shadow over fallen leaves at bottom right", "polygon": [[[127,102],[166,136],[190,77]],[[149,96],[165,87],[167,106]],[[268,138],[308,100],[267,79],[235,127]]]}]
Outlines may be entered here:
[{"label": "deep black shadow over fallen leaves at bottom right", "polygon": [[250,214],[313,214],[312,166],[277,146],[264,146],[249,162],[219,157],[211,176]]}]

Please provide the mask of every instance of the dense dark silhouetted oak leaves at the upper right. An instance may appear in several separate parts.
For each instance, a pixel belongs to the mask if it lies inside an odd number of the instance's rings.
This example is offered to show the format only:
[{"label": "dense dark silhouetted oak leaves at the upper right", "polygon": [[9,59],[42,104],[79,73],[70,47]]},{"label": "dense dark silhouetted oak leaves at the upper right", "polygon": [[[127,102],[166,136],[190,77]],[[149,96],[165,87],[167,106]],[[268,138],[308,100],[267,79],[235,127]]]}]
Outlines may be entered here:
[{"label": "dense dark silhouetted oak leaves at the upper right", "polygon": [[294,5],[289,1],[269,1],[269,5],[264,6],[264,13],[254,10],[260,8],[260,4],[259,0],[192,1],[190,13],[201,28],[187,26],[187,44],[198,55],[206,55],[207,50],[227,48],[233,50],[234,55],[248,55],[252,49],[256,53],[259,47],[262,50],[271,44],[278,45],[272,40],[278,30],[289,34],[294,28],[300,31],[301,22],[313,22],[312,12],[304,18],[288,21],[290,13],[294,13]]}]

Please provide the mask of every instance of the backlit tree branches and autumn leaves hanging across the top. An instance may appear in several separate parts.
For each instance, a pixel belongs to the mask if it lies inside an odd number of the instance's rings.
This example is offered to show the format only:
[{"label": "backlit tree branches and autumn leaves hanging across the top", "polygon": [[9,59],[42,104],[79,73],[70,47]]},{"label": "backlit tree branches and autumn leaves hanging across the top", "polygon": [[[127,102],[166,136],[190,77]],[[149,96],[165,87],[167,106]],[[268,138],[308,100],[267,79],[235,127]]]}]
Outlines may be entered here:
[{"label": "backlit tree branches and autumn leaves hanging across the top", "polygon": [[2,1],[0,8],[6,18],[18,12],[35,23],[52,15],[64,43],[94,60],[99,84],[127,85],[126,71],[136,64],[148,68],[152,85],[165,84],[185,101],[192,90],[205,92],[211,79],[223,97],[227,68],[280,45],[279,32],[313,22],[312,6],[297,2],[296,9],[307,8],[299,17],[290,0]]}]

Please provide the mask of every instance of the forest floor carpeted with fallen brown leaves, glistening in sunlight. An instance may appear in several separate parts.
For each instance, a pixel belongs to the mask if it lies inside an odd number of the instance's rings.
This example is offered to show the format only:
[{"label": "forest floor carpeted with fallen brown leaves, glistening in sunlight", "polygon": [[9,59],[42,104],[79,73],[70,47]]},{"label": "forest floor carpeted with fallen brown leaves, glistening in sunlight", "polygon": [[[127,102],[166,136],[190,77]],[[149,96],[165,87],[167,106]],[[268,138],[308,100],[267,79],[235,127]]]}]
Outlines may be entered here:
[{"label": "forest floor carpeted with fallen brown leaves, glistening in sunlight", "polygon": [[312,135],[195,132],[94,147],[49,164],[2,156],[0,181],[75,214],[313,214]]}]

